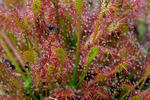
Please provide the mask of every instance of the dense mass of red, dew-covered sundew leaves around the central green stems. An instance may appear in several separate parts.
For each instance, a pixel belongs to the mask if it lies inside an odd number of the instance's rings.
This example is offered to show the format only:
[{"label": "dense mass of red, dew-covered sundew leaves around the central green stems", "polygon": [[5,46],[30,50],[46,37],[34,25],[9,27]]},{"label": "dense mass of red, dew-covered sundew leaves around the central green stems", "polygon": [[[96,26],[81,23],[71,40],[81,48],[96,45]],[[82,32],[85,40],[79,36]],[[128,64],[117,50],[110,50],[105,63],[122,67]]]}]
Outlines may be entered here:
[{"label": "dense mass of red, dew-covered sundew leaves around the central green stems", "polygon": [[[96,45],[99,47],[99,54],[90,65],[88,72],[90,75],[86,76],[87,79],[78,90],[72,88],[69,83],[74,70],[75,50],[68,50],[68,44],[66,45],[63,39],[65,32],[68,35],[73,34],[72,31],[77,31],[78,16],[74,1],[68,0],[64,3],[59,0],[41,0],[38,13],[32,9],[33,1],[27,1],[25,3],[25,1],[14,0],[16,4],[13,2],[12,7],[10,7],[11,4],[6,3],[9,0],[6,1],[0,10],[0,20],[2,20],[1,30],[6,34],[12,32],[17,37],[16,48],[19,48],[21,54],[29,49],[25,42],[21,41],[25,40],[25,35],[30,39],[32,50],[39,54],[38,59],[30,64],[34,93],[57,99],[109,100],[119,94],[117,91],[122,84],[129,84],[133,87],[145,72],[147,58],[130,30],[133,20],[145,7],[144,0],[112,0],[111,8],[100,21],[100,35],[94,43],[87,45],[85,45],[86,40],[90,39],[94,32],[102,10],[102,0],[99,0],[99,4],[94,5],[93,8],[88,6],[86,0],[84,1],[81,16],[82,40],[78,79],[87,64],[89,50]],[[59,1],[58,4],[57,1]],[[93,0],[93,3],[95,2],[96,0]],[[59,23],[60,19],[66,25],[66,31]],[[109,26],[115,22],[120,22],[120,25],[109,32]],[[59,29],[49,30],[48,25]],[[63,48],[67,54],[62,71],[59,69],[61,61],[56,54],[57,48]],[[3,56],[3,51],[1,52]],[[125,68],[121,72],[115,72],[119,66]],[[129,76],[132,76],[131,79],[128,78]],[[133,95],[135,91],[131,96]]]}]

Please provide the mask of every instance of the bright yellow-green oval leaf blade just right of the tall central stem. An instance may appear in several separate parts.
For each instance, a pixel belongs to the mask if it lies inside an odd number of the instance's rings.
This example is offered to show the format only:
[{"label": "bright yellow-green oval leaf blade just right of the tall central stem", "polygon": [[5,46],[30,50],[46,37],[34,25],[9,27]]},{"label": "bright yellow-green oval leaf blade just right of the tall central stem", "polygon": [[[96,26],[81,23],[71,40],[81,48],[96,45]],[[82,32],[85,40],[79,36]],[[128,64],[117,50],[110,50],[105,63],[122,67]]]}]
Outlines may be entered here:
[{"label": "bright yellow-green oval leaf blade just right of the tall central stem", "polygon": [[92,62],[93,58],[96,57],[98,52],[99,52],[99,48],[97,46],[92,47],[92,49],[89,51],[89,54],[88,54],[88,63]]}]

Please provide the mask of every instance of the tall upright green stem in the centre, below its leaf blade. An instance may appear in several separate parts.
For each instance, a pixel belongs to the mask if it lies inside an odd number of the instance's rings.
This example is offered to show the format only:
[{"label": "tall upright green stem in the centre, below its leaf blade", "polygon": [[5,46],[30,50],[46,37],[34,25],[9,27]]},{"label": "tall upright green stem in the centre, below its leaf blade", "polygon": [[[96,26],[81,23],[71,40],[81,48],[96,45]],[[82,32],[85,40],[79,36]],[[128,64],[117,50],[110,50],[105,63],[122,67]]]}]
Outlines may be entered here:
[{"label": "tall upright green stem in the centre, below its leaf blade", "polygon": [[77,70],[79,65],[79,59],[80,59],[80,32],[81,31],[81,16],[78,18],[78,34],[77,34],[77,47],[76,47],[76,60],[75,60],[75,69],[73,73],[73,85],[76,87],[76,81],[77,81]]}]

